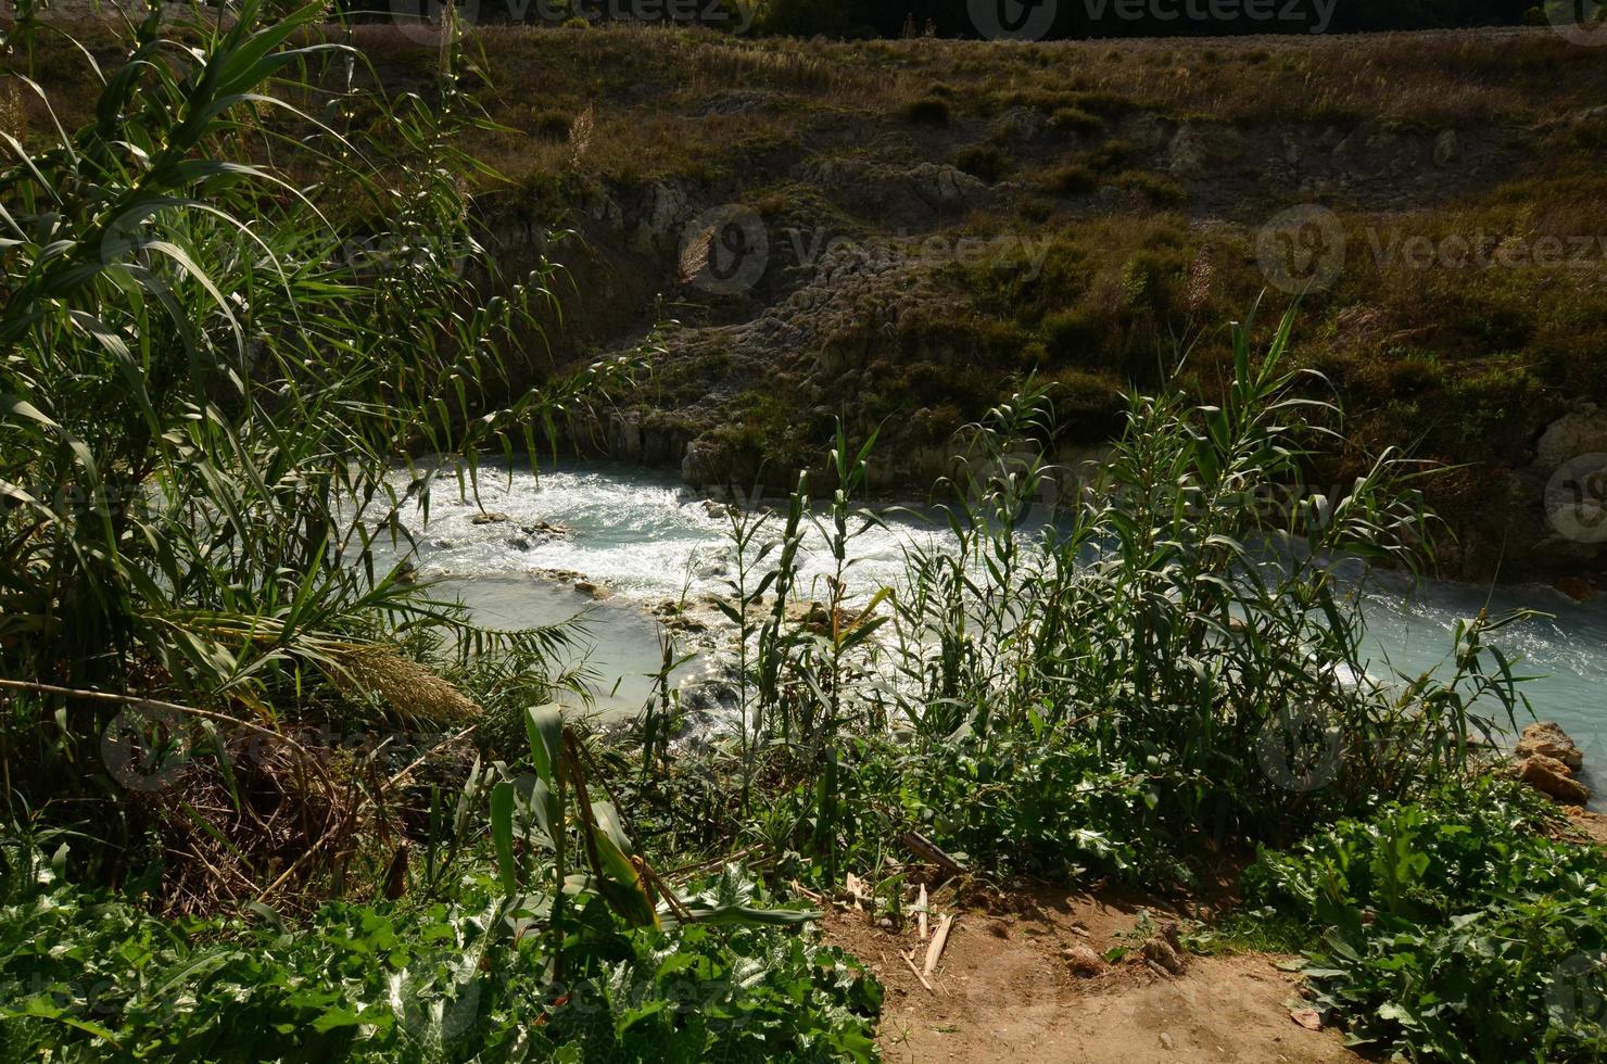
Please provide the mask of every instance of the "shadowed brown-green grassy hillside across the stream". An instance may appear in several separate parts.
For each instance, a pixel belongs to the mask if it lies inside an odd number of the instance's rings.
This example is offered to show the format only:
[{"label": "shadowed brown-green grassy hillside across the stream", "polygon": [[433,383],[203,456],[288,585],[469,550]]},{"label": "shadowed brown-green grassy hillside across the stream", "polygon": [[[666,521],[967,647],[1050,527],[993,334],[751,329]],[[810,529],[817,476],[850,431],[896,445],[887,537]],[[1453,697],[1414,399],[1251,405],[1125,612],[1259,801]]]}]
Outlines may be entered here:
[{"label": "shadowed brown-green grassy hillside across the stream", "polygon": [[[429,92],[427,34],[357,39],[389,88]],[[1607,450],[1580,407],[1607,397],[1607,50],[1549,31],[1012,45],[622,24],[468,43],[508,127],[471,145],[508,178],[477,193],[487,231],[513,275],[569,268],[561,355],[677,323],[599,434],[612,453],[779,485],[842,411],[885,426],[889,482],[926,484],[1024,373],[1059,383],[1062,450],[1086,453],[1118,391],[1192,349],[1212,397],[1213,323],[1303,293],[1300,358],[1348,411],[1319,484],[1408,447],[1446,466],[1425,489],[1451,571],[1601,567],[1541,497],[1559,447]],[[66,55],[43,74],[74,76]],[[550,246],[550,223],[574,236]],[[733,252],[738,283],[699,275],[710,233],[763,241]],[[1570,411],[1580,431],[1536,450]]]}]

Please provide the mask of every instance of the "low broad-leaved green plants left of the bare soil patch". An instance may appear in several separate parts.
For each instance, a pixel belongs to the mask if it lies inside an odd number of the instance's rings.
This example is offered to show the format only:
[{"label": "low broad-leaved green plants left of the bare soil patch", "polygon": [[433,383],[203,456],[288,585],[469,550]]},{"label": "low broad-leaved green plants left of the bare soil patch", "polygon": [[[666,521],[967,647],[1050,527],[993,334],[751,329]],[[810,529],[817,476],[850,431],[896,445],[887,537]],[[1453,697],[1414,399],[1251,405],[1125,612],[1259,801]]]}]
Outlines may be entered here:
[{"label": "low broad-leaved green plants left of the bare soil patch", "polygon": [[763,926],[630,929],[593,898],[554,979],[519,903],[472,878],[447,903],[301,924],[164,921],[45,870],[0,908],[0,1058],[876,1059],[881,988],[834,948]]}]

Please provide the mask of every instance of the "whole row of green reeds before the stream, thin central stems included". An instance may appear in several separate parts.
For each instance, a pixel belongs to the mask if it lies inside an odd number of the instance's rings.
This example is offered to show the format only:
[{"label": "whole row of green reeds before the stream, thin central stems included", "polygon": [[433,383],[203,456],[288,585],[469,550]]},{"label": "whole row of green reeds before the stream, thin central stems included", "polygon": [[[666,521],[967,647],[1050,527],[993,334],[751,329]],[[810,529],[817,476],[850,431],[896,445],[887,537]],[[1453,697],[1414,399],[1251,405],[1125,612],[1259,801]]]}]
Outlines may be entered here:
[{"label": "whole row of green reeds before the stream, thin central stems included", "polygon": [[[1289,837],[1464,778],[1527,712],[1488,638],[1512,617],[1462,625],[1443,670],[1369,672],[1364,577],[1340,572],[1432,561],[1425,468],[1385,453],[1334,495],[1303,487],[1340,411],[1289,366],[1292,321],[1260,357],[1233,326],[1220,407],[1131,397],[1085,479],[1051,464],[1053,392],[1028,386],[972,426],[945,535],[913,543],[895,585],[853,588],[857,614],[839,563],[815,630],[781,620],[804,593],[792,553],[813,514],[813,545],[852,561],[869,447],[839,431],[831,503],[800,489],[786,519],[738,521],[739,553],[783,546],[744,566],[731,609],[752,640],[742,831],[826,868],[914,828],[1004,863],[1155,876],[1165,839]],[[755,778],[786,797],[754,810]]]}]

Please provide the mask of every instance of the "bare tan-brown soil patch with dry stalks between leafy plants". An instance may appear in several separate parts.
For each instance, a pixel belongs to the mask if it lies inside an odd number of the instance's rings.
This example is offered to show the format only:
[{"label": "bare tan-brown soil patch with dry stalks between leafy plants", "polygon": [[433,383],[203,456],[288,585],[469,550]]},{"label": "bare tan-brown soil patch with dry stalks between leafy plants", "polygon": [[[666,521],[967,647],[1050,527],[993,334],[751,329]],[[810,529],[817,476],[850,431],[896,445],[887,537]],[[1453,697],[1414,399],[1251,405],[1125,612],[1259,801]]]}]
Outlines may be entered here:
[{"label": "bare tan-brown soil patch with dry stalks between leafy plants", "polygon": [[[945,908],[935,903],[934,908]],[[1149,932],[1175,918],[1165,908],[1106,895],[1038,890],[1014,911],[956,908],[958,919],[930,982],[914,921],[903,931],[861,911],[832,911],[824,937],[865,961],[887,996],[879,1041],[887,1061],[1360,1061],[1335,1030],[1306,1030],[1300,976],[1266,953],[1188,956],[1178,976],[1144,961]],[[1143,918],[1147,908],[1149,921]],[[934,919],[935,924],[935,919]],[[1127,947],[1096,969],[1088,955]],[[1077,974],[1073,951],[1083,971]]]}]

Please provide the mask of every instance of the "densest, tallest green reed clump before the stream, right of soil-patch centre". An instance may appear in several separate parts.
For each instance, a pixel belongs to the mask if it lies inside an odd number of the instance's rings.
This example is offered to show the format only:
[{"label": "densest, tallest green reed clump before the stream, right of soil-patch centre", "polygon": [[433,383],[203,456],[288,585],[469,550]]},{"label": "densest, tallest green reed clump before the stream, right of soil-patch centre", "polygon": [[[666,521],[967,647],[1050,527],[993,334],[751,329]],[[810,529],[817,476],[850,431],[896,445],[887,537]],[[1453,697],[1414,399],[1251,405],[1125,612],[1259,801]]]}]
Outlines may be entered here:
[{"label": "densest, tallest green reed clump before the stream, right of soil-patch centre", "polygon": [[979,426],[971,501],[950,509],[959,548],[918,553],[898,596],[918,683],[902,706],[927,741],[1062,728],[1144,765],[1163,815],[1253,837],[1459,773],[1495,725],[1475,702],[1511,723],[1522,696],[1485,643],[1498,620],[1459,633],[1450,675],[1369,675],[1335,564],[1430,556],[1422,469],[1385,453],[1339,497],[1303,490],[1339,411],[1287,366],[1290,328],[1253,358],[1234,326],[1221,407],[1133,399],[1109,461],[1049,522],[1024,524],[1065,489],[1035,444],[1048,395]]}]

